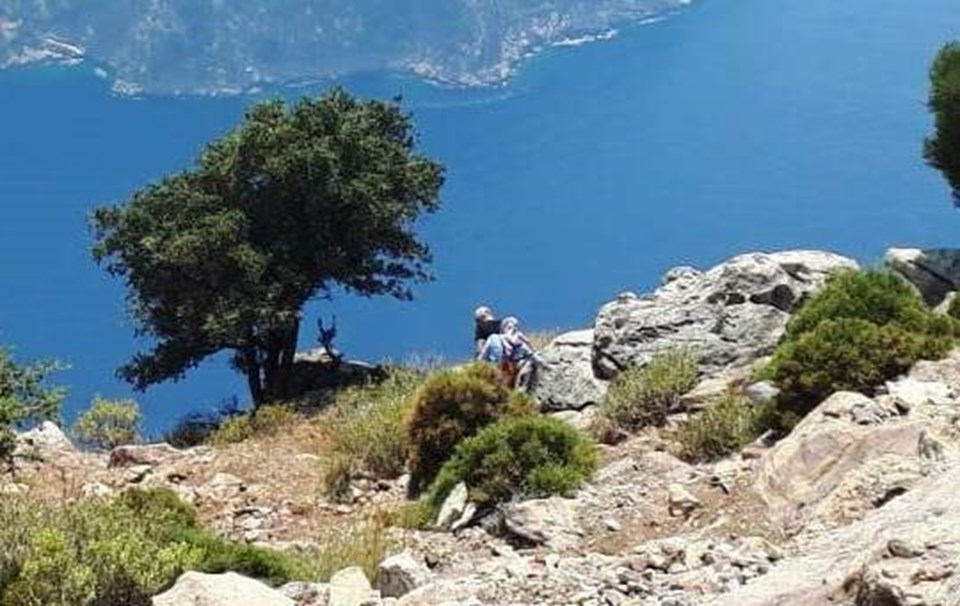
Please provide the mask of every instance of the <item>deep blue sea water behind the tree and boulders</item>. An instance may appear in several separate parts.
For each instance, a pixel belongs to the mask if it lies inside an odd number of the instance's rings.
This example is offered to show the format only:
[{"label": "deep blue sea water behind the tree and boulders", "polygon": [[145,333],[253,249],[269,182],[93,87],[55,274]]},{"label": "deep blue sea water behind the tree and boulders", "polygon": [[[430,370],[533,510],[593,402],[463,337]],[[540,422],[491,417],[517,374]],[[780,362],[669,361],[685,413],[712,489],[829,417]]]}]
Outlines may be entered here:
[{"label": "deep blue sea water behind the tree and boulders", "polygon": [[[704,0],[547,52],[504,89],[347,80],[403,93],[423,147],[447,164],[445,206],[423,226],[437,280],[412,303],[320,302],[310,322],[335,312],[353,357],[457,358],[481,302],[527,328],[582,327],[673,265],[955,245],[960,214],[920,147],[928,66],[960,37],[958,8]],[[87,213],[188,165],[253,101],[120,99],[84,69],[0,73],[0,343],[72,365],[57,375],[67,418],[95,393],[129,395],[113,369],[136,348],[122,285],[90,259]],[[241,381],[213,361],[137,398],[156,431],[232,394],[245,397]]]}]

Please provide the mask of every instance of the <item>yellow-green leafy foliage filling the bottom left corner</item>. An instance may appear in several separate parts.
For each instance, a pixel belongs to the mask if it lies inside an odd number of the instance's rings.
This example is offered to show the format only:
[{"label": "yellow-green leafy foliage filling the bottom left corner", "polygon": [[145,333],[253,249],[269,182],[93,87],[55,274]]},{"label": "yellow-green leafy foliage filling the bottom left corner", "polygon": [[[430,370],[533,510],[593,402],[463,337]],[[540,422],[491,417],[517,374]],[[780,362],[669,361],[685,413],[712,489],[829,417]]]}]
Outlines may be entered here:
[{"label": "yellow-green leafy foliage filling the bottom left corner", "polygon": [[312,578],[305,561],[202,529],[169,490],[43,508],[0,503],[0,604],[148,606],[184,570],[235,570],[279,584]]}]

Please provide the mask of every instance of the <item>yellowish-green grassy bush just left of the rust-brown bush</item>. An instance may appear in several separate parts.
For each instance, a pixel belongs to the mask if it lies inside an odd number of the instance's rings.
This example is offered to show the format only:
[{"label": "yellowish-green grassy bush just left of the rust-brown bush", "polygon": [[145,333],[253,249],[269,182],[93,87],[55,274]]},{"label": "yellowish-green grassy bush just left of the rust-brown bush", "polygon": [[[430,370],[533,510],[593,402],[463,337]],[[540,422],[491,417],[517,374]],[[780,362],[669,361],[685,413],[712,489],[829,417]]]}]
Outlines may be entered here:
[{"label": "yellowish-green grassy bush just left of the rust-brown bush", "polygon": [[330,455],[323,469],[327,493],[337,496],[359,471],[380,478],[403,474],[409,449],[410,396],[425,378],[417,369],[395,368],[386,380],[338,393],[323,419]]}]

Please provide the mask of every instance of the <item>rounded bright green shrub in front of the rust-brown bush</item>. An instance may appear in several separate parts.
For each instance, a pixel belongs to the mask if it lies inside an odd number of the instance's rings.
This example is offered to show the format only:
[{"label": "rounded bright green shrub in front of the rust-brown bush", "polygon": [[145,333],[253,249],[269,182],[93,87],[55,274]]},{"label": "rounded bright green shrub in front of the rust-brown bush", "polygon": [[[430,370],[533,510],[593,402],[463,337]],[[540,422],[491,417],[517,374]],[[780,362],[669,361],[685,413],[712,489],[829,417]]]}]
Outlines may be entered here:
[{"label": "rounded bright green shrub in front of the rust-brown bush", "polygon": [[563,421],[509,419],[461,442],[431,485],[428,500],[439,507],[460,482],[481,505],[566,494],[588,480],[596,465],[593,442]]}]

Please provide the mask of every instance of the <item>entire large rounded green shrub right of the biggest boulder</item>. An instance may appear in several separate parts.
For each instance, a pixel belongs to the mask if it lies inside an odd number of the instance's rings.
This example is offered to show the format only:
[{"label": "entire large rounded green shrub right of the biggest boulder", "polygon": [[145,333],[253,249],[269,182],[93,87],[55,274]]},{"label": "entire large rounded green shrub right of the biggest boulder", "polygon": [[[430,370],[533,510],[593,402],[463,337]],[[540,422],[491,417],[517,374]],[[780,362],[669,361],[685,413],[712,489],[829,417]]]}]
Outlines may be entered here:
[{"label": "entire large rounded green shrub right of the biggest boulder", "polygon": [[781,412],[799,418],[835,391],[868,391],[943,357],[955,333],[895,275],[841,272],[790,321],[764,374],[781,390]]}]

